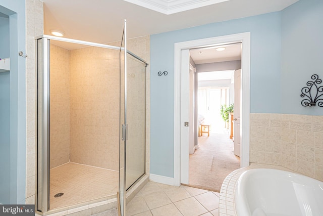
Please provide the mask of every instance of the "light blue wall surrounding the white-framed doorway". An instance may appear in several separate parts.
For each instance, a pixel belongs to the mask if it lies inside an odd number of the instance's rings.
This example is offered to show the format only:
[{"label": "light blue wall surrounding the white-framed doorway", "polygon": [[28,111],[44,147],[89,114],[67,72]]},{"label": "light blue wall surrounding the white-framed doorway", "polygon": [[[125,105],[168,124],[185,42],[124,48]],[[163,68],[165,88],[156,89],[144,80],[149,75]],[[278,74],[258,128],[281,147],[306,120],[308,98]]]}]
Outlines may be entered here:
[{"label": "light blue wall surrounding the white-framed doorway", "polygon": [[243,32],[251,32],[251,112],[280,113],[281,12],[151,35],[151,174],[174,177],[174,44]]}]

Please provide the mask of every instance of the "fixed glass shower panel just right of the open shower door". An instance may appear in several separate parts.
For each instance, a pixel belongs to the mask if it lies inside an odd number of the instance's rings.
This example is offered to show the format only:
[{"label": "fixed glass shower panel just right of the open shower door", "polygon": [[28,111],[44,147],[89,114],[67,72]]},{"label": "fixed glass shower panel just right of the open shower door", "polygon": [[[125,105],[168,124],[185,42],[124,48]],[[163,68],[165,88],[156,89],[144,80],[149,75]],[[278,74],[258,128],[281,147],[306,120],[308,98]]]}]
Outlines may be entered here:
[{"label": "fixed glass shower panel just right of the open shower door", "polygon": [[126,189],[145,174],[145,63],[127,54]]}]

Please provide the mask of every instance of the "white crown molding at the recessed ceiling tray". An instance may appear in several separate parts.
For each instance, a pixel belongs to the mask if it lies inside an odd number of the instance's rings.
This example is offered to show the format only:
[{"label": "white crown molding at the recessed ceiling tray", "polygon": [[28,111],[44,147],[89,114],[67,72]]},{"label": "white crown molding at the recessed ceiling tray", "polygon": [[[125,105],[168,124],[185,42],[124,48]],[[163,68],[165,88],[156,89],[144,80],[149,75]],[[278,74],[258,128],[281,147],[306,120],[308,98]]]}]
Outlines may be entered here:
[{"label": "white crown molding at the recessed ceiling tray", "polygon": [[230,0],[124,0],[163,14],[175,14]]}]

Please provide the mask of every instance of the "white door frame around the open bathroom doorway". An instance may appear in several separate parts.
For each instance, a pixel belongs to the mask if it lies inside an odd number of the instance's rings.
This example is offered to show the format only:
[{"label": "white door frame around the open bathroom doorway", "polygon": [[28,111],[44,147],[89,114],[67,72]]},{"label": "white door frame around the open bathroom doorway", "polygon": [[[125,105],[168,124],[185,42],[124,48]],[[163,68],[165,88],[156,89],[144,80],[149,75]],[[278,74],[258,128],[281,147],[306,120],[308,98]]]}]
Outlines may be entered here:
[{"label": "white door frame around the open bathroom doorway", "polygon": [[[213,45],[242,42],[241,49],[241,158],[240,167],[249,165],[250,159],[250,32],[203,38],[175,43],[174,55],[174,185],[181,185],[182,150],[188,145],[181,143],[181,51]],[[242,136],[243,135],[243,136]]]}]

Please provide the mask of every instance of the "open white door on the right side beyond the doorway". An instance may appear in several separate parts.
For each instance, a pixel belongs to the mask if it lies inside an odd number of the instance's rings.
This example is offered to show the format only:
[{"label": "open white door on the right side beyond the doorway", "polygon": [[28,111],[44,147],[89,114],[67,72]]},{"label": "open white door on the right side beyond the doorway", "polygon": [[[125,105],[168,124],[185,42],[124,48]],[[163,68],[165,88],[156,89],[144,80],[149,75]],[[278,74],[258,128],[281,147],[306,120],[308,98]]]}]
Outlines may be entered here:
[{"label": "open white door on the right side beyond the doorway", "polygon": [[241,69],[234,72],[234,108],[233,108],[233,140],[234,140],[234,154],[240,157],[240,89],[241,89]]}]

